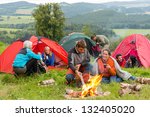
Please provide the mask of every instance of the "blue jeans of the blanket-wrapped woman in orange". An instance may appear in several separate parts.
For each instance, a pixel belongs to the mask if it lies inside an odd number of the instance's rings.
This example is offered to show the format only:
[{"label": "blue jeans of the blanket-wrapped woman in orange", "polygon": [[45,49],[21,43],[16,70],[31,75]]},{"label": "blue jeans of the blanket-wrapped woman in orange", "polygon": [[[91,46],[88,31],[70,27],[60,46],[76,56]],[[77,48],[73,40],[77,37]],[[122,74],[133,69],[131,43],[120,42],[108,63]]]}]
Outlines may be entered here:
[{"label": "blue jeans of the blanket-wrapped woman in orange", "polygon": [[122,78],[119,78],[117,76],[111,76],[110,78],[103,77],[102,83],[111,83],[111,82],[122,82]]}]

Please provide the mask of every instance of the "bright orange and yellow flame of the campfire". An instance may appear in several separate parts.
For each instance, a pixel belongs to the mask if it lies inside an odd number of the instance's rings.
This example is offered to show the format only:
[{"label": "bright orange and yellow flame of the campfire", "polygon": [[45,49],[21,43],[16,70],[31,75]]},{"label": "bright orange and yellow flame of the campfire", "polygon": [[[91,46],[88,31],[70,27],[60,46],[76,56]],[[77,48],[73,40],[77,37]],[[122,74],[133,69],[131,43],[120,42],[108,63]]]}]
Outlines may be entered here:
[{"label": "bright orange and yellow flame of the campfire", "polygon": [[96,75],[89,79],[88,83],[82,86],[81,97],[85,97],[88,94],[90,96],[95,96],[97,93],[97,87],[102,80],[102,75]]}]

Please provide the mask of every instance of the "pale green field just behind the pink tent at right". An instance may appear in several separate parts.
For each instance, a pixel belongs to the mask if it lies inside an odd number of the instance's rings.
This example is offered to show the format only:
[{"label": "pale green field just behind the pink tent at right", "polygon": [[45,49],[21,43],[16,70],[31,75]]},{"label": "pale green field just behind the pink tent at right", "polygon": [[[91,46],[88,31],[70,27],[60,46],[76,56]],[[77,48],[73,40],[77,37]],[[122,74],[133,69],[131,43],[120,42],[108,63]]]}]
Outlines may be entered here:
[{"label": "pale green field just behind the pink tent at right", "polygon": [[129,36],[131,34],[150,34],[150,29],[113,29],[113,31],[121,38]]}]

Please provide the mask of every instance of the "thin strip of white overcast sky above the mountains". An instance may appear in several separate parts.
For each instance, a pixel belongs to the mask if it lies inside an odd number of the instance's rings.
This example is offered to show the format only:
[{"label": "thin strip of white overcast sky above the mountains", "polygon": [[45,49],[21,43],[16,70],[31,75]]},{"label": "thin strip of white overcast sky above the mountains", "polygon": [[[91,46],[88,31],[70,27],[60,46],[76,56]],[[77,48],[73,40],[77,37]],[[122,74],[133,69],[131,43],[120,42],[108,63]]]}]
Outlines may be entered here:
[{"label": "thin strip of white overcast sky above the mountains", "polygon": [[112,2],[112,1],[133,1],[133,0],[0,0],[0,4],[16,2],[16,1],[28,1],[32,3],[48,3],[48,2],[67,2],[67,3],[76,3],[76,2],[89,2],[89,3],[103,3],[103,2]]}]

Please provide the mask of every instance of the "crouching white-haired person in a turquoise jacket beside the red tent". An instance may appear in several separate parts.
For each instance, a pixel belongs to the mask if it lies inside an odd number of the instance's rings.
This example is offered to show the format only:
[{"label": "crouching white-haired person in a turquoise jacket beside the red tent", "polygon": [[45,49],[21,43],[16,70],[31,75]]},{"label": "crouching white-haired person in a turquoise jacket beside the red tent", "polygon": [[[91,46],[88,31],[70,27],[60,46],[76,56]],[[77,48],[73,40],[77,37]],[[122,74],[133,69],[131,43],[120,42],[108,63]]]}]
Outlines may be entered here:
[{"label": "crouching white-haired person in a turquoise jacket beside the red tent", "polygon": [[[42,60],[41,55],[35,54],[32,51],[31,41],[24,41],[23,46],[24,47],[16,55],[16,58],[13,61],[13,71],[15,72],[15,75],[30,75],[40,72],[40,69],[37,66],[39,62],[38,60]],[[41,63],[43,64],[42,61]]]}]

